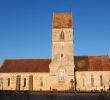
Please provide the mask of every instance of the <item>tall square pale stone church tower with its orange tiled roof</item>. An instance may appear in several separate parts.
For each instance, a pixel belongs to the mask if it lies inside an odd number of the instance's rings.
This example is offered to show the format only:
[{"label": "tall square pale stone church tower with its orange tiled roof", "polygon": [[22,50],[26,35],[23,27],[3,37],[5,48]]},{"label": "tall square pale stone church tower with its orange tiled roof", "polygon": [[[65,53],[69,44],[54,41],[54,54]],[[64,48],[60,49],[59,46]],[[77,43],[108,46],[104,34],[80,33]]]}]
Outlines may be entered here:
[{"label": "tall square pale stone church tower with its orange tiled roof", "polygon": [[67,90],[74,86],[73,51],[72,13],[54,13],[52,58],[49,65],[50,83],[53,89]]}]

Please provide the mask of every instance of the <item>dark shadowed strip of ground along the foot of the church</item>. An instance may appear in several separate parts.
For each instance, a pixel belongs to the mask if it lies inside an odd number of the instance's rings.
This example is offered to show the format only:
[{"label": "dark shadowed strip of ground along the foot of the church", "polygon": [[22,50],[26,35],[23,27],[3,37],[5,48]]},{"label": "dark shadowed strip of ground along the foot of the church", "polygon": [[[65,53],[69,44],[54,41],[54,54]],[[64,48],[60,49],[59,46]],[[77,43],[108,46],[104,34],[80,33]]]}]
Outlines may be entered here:
[{"label": "dark shadowed strip of ground along the foot of the church", "polygon": [[110,100],[110,92],[0,91],[0,100]]}]

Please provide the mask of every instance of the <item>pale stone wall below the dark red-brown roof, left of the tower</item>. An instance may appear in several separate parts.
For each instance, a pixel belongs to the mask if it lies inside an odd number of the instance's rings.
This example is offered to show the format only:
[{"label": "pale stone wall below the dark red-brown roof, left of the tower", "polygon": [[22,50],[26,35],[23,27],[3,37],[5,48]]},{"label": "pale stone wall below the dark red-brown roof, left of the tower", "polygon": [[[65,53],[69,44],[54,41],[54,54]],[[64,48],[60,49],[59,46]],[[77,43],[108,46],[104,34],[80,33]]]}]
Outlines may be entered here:
[{"label": "pale stone wall below the dark red-brown roof, left of the tower", "polygon": [[[32,90],[50,89],[48,73],[0,73],[0,90],[16,90],[17,76],[20,76],[20,90],[30,90],[29,84],[32,84]],[[31,80],[29,83],[29,76],[33,76],[33,82]],[[24,78],[26,79],[25,83]]]}]

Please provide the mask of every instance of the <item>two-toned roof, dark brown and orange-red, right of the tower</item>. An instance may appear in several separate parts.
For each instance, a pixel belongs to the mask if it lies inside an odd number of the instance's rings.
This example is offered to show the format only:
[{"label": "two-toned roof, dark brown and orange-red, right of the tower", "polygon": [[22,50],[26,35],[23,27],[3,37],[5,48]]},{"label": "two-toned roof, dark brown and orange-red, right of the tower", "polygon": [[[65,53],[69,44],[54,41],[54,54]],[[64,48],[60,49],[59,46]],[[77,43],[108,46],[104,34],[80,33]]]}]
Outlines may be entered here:
[{"label": "two-toned roof, dark brown and orange-red, right of the tower", "polygon": [[105,56],[75,57],[76,71],[110,71],[110,58]]}]

